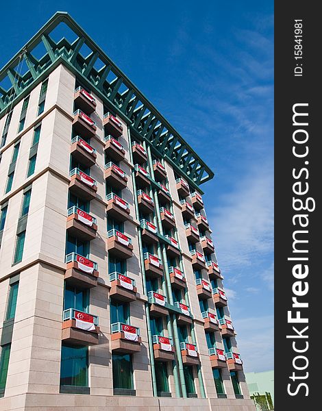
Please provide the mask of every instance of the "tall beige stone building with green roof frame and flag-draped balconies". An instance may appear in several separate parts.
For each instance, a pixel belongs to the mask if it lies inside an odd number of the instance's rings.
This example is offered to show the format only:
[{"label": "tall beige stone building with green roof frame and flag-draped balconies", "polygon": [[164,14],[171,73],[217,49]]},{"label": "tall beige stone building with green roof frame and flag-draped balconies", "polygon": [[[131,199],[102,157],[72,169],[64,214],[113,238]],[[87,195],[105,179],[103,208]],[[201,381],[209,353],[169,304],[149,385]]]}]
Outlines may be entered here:
[{"label": "tall beige stone building with green roof frame and flag-draped balconies", "polygon": [[64,12],[0,82],[0,410],[253,410],[210,169]]}]

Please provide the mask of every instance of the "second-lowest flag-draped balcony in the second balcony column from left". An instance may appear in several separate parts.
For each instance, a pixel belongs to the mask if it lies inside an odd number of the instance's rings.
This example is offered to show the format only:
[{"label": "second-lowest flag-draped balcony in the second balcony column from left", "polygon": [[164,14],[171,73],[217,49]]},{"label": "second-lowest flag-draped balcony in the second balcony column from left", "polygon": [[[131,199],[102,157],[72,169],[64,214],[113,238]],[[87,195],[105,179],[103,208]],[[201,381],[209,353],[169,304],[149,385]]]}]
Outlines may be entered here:
[{"label": "second-lowest flag-draped balcony in the second balcony column from left", "polygon": [[122,302],[132,302],[136,300],[135,280],[121,273],[110,273],[110,297],[113,300]]}]

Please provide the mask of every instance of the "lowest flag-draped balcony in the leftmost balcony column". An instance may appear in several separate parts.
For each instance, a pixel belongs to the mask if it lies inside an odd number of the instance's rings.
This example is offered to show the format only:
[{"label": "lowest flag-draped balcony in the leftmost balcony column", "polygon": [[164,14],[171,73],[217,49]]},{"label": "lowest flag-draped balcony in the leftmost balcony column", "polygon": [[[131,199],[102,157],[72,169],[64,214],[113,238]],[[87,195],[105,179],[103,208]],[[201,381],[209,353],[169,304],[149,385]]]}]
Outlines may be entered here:
[{"label": "lowest flag-draped balcony in the leftmost balcony column", "polygon": [[74,308],[62,313],[62,341],[73,345],[95,345],[99,343],[99,323],[96,315]]}]

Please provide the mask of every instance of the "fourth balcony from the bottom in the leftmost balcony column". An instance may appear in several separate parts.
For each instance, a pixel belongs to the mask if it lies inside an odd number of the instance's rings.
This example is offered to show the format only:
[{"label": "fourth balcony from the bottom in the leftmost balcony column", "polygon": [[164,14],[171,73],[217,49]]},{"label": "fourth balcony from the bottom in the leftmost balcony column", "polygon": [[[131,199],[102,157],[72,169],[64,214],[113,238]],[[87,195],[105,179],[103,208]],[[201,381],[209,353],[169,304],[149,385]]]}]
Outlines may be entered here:
[{"label": "fourth balcony from the bottom in the leftmost balcony column", "polygon": [[71,176],[69,190],[71,190],[76,197],[80,197],[87,201],[96,198],[97,182],[95,179],[79,169],[71,170],[69,175]]}]

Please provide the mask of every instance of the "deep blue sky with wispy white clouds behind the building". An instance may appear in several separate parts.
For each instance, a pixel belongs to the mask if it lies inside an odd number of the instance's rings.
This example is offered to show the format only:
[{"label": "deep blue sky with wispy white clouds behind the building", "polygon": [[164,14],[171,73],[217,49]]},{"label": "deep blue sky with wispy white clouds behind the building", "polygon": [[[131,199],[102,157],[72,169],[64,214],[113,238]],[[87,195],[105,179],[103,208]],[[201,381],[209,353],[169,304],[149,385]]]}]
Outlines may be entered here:
[{"label": "deep blue sky with wispy white clouds behind the building", "polygon": [[0,65],[57,10],[215,172],[204,200],[245,371],[273,369],[273,1],[5,2]]}]

